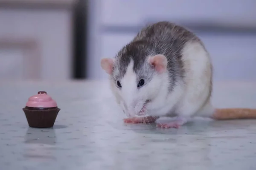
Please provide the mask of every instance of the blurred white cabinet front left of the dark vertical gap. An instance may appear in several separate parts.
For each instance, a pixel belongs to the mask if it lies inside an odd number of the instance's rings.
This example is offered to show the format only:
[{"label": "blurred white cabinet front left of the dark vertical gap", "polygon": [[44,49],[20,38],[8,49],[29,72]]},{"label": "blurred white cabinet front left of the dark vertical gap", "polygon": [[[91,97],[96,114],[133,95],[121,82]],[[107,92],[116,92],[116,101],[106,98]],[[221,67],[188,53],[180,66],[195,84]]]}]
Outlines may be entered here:
[{"label": "blurred white cabinet front left of the dark vertical gap", "polygon": [[72,12],[0,8],[0,80],[71,77]]}]

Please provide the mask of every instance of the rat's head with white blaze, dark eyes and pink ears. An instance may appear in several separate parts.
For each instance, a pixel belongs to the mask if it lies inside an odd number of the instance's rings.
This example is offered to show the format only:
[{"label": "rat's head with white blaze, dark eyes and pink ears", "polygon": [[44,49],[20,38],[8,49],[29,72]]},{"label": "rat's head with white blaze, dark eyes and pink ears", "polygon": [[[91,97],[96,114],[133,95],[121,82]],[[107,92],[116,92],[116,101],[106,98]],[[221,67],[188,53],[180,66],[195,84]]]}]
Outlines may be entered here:
[{"label": "rat's head with white blaze, dark eyes and pink ears", "polygon": [[128,117],[145,113],[167,82],[166,57],[141,44],[126,45],[114,59],[102,59],[101,66],[110,75],[113,94]]}]

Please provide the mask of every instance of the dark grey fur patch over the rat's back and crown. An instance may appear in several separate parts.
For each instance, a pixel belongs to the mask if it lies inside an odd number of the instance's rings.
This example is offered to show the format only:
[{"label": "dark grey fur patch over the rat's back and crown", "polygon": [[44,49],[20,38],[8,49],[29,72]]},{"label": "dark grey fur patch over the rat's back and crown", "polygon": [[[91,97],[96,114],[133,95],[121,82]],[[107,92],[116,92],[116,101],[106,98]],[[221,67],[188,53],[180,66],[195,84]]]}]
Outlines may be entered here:
[{"label": "dark grey fur patch over the rat's back and crown", "polygon": [[168,59],[169,89],[175,86],[178,79],[183,78],[184,68],[181,59],[182,50],[186,42],[199,41],[199,38],[182,26],[174,23],[158,22],[143,28],[137,36],[125,45],[116,55],[113,80],[124,76],[131,59],[134,61],[134,71],[137,79],[149,82],[156,74],[154,68],[145,62],[148,56],[163,54]]}]

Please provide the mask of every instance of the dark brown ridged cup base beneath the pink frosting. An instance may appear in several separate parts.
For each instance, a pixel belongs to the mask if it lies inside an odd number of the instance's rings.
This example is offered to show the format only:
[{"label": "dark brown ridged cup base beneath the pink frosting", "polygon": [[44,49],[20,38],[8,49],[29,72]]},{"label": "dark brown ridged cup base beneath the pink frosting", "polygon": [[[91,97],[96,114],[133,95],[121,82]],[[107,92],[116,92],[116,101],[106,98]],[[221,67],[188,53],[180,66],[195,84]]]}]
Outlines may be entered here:
[{"label": "dark brown ridged cup base beneath the pink frosting", "polygon": [[30,127],[48,128],[53,127],[58,112],[61,110],[55,108],[22,108]]}]

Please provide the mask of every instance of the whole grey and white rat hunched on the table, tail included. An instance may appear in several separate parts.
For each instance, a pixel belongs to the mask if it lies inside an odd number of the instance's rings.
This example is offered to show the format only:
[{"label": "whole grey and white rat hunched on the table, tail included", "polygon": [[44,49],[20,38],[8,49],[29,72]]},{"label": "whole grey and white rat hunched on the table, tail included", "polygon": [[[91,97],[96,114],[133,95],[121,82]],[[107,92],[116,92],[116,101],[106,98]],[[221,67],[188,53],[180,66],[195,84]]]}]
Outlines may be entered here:
[{"label": "whole grey and white rat hunched on the table, tail included", "polygon": [[253,119],[256,109],[215,108],[211,103],[212,62],[204,43],[183,26],[149,24],[113,58],[101,59],[125,123],[180,127],[195,116],[215,120]]}]

